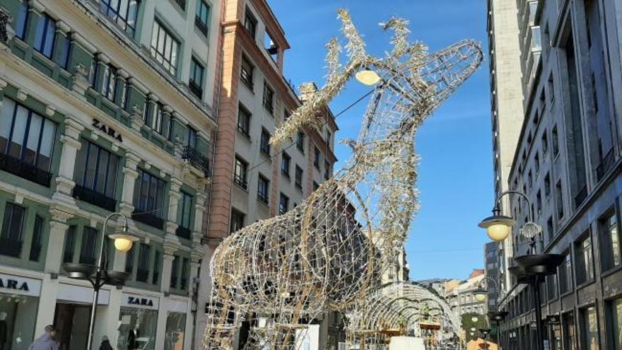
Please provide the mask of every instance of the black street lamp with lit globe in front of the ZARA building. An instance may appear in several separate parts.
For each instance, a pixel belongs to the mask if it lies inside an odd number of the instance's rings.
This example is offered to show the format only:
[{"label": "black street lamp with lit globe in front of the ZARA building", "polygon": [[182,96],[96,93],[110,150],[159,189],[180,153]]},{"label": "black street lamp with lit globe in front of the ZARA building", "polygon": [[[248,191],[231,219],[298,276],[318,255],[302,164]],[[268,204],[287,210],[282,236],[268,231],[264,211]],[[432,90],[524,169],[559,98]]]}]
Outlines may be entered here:
[{"label": "black street lamp with lit globe in front of the ZARA building", "polygon": [[[124,226],[122,233],[106,236],[106,228],[108,221],[112,216],[121,216],[124,220]],[[111,213],[106,216],[104,220],[104,229],[102,232],[102,245],[100,247],[100,255],[97,260],[97,265],[92,264],[63,264],[64,270],[67,272],[67,276],[70,279],[86,279],[93,286],[93,305],[90,306],[90,320],[88,326],[88,349],[93,349],[93,331],[95,329],[95,313],[97,311],[97,304],[100,295],[100,288],[105,284],[112,284],[115,286],[123,286],[125,280],[129,276],[126,272],[107,271],[105,270],[105,261],[107,256],[104,257],[104,240],[110,238],[115,240],[115,249],[119,252],[127,252],[131,249],[134,241],[138,240],[131,235],[127,234],[127,218],[121,213]],[[105,258],[105,259],[104,259]]]}]

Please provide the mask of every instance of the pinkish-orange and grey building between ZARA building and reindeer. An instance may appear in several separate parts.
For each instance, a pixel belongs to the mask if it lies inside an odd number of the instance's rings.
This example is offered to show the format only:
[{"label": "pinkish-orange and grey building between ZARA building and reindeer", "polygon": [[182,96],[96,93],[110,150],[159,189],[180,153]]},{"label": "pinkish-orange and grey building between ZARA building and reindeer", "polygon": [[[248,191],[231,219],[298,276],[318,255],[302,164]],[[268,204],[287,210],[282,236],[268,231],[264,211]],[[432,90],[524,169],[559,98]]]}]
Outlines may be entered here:
[{"label": "pinkish-orange and grey building between ZARA building and reindeer", "polygon": [[[328,107],[321,130],[300,130],[290,144],[269,145],[274,129],[317,88],[301,84],[298,97],[283,77],[290,46],[266,0],[225,0],[222,13],[208,258],[218,240],[300,204],[332,176],[336,162],[337,127]],[[209,281],[209,269],[201,269],[201,281]],[[201,284],[201,302],[209,288]],[[205,328],[205,315],[198,323]],[[324,342],[327,332],[322,327]]]}]

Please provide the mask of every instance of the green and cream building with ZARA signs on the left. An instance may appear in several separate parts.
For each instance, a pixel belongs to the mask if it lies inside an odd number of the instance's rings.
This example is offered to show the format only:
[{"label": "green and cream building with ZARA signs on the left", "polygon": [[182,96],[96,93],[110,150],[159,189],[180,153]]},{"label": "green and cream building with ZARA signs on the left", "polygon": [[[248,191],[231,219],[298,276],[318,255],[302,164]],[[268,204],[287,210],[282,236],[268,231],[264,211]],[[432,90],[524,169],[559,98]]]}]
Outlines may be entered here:
[{"label": "green and cream building with ZARA signs on the left", "polygon": [[[103,287],[95,344],[191,349],[220,4],[0,5],[0,348],[54,324],[63,349],[86,349],[92,288],[61,264],[94,264],[105,245],[129,279]],[[139,238],[127,253],[102,238],[113,211]]]}]

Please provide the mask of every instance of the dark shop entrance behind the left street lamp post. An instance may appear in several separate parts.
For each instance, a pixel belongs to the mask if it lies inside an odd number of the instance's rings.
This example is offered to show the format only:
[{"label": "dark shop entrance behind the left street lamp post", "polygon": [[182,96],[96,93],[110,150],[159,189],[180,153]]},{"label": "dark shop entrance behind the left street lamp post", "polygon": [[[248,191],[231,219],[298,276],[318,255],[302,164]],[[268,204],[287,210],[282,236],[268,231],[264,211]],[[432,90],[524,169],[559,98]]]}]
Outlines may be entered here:
[{"label": "dark shop entrance behind the left street lamp post", "polygon": [[83,350],[88,341],[90,306],[57,303],[54,325],[58,329],[59,350]]}]

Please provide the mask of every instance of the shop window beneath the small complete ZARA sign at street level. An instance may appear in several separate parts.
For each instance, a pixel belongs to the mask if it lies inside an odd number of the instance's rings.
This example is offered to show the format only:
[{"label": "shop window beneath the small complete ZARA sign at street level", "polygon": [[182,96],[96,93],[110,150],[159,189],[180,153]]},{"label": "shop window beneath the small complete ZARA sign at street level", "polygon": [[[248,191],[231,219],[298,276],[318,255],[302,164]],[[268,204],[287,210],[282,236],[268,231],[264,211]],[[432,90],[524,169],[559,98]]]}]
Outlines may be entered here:
[{"label": "shop window beneath the small complete ZARA sign at street level", "polygon": [[118,350],[155,350],[159,302],[157,297],[122,294]]}]

